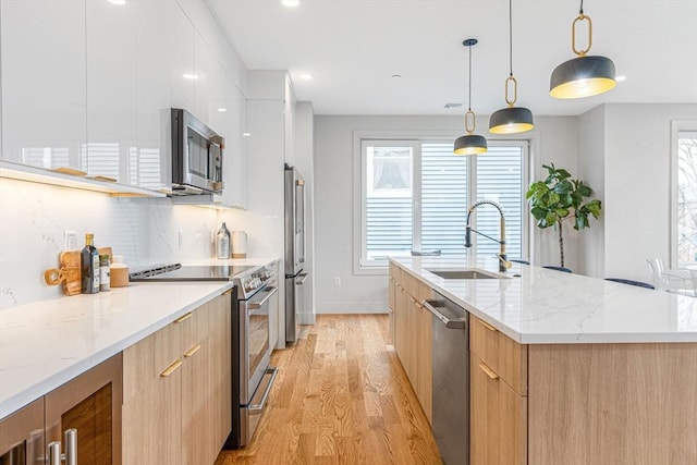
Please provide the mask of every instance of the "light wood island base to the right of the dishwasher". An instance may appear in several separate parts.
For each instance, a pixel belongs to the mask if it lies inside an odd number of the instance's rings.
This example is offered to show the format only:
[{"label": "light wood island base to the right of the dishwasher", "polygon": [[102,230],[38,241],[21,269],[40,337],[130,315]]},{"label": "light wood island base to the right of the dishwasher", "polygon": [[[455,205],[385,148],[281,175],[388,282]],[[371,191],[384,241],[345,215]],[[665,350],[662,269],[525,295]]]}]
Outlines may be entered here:
[{"label": "light wood island base to the right of the dishwasher", "polygon": [[697,463],[697,344],[469,334],[473,465]]}]

